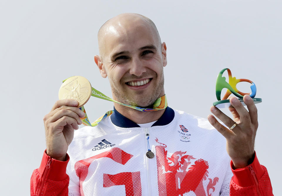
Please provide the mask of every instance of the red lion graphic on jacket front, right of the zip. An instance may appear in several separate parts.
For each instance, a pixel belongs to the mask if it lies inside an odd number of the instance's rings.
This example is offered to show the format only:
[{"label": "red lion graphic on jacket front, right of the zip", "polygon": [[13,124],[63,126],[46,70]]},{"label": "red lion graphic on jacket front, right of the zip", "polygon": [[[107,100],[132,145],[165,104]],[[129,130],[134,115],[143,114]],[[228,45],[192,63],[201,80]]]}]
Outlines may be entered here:
[{"label": "red lion graphic on jacket front, right of the zip", "polygon": [[[168,157],[166,147],[165,144],[156,146],[159,195],[183,196],[184,193],[193,191],[197,196],[206,196],[207,194],[210,196],[214,192],[214,186],[219,178],[215,177],[213,180],[208,178],[209,184],[204,188],[203,180],[207,180],[209,173],[208,162],[198,159],[194,165],[187,169],[191,164],[190,160],[196,158],[185,155],[186,152],[182,151],[176,151],[171,157]],[[210,189],[212,189],[211,193],[209,193]],[[207,194],[205,190],[207,190]]]}]

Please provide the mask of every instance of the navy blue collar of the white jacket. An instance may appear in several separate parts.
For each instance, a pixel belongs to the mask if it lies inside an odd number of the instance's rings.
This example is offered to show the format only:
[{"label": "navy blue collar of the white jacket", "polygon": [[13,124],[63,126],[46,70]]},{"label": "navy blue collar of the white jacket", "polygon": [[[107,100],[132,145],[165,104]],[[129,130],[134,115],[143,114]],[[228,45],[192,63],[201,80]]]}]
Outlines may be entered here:
[{"label": "navy blue collar of the white jacket", "polygon": [[[140,127],[132,120],[128,119],[127,117],[121,115],[114,107],[114,113],[110,115],[110,118],[114,125],[123,128],[132,128],[132,127]],[[152,127],[154,126],[163,126],[169,124],[174,118],[174,110],[172,108],[165,108],[164,113],[162,116],[155,122]]]}]

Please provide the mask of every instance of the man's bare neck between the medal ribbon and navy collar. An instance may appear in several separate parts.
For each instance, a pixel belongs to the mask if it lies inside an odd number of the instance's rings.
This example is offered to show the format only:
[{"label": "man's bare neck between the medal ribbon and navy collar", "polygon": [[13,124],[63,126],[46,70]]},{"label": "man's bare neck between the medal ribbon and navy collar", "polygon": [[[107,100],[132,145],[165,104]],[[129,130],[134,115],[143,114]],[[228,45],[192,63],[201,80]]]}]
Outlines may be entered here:
[{"label": "man's bare neck between the medal ribbon and navy collar", "polygon": [[132,120],[135,123],[143,124],[159,120],[164,113],[164,110],[141,112],[126,106],[114,103],[115,109],[123,116]]}]

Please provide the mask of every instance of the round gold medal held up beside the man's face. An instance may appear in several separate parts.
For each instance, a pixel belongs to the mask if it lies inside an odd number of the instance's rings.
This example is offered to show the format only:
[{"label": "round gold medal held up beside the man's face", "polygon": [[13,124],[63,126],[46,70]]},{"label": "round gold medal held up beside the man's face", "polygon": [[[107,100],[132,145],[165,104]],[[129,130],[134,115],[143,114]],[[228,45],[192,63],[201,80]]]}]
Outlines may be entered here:
[{"label": "round gold medal held up beside the man's face", "polygon": [[80,108],[89,100],[91,90],[91,84],[85,77],[73,76],[66,79],[60,87],[59,99],[75,99]]}]

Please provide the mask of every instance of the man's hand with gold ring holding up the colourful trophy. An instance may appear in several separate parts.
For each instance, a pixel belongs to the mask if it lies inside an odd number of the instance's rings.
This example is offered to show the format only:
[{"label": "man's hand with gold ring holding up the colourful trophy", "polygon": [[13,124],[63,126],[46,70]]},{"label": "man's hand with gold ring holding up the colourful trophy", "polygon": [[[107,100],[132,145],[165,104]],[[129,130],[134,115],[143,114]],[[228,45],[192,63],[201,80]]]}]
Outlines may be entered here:
[{"label": "man's hand with gold ring holding up the colourful trophy", "polygon": [[215,106],[211,112],[218,117],[227,127],[219,123],[213,115],[208,116],[209,122],[226,138],[226,150],[235,168],[243,168],[252,163],[254,158],[254,145],[256,130],[258,129],[258,114],[253,99],[249,95],[243,97],[248,110],[236,98],[231,97],[230,103],[234,108],[229,108],[234,119],[222,113]]}]

